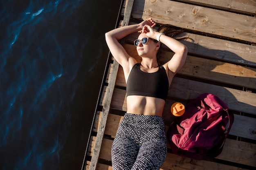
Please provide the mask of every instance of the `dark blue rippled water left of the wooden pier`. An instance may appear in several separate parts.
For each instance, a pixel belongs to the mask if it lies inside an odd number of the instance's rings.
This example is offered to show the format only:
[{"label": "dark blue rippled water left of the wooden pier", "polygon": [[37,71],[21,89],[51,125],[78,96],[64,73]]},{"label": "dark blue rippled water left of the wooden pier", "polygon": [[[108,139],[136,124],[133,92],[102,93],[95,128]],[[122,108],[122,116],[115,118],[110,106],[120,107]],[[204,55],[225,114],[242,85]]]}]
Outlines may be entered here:
[{"label": "dark blue rippled water left of the wooden pier", "polygon": [[0,2],[1,170],[81,169],[119,6]]}]

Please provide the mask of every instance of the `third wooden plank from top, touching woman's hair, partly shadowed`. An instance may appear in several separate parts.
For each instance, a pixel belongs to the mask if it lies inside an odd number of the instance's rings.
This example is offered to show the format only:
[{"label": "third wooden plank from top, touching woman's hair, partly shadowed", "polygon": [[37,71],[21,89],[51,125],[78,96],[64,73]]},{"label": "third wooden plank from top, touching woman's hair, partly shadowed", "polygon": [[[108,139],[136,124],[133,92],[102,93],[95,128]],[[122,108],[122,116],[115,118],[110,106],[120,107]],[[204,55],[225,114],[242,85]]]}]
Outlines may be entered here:
[{"label": "third wooden plank from top, touching woman's hair, partly shadowed", "polygon": [[[138,36],[139,33],[132,33],[126,40],[133,42]],[[220,59],[233,64],[256,66],[256,46],[192,33],[182,33],[180,37],[182,36],[188,36],[193,41],[191,42],[189,39],[181,41],[188,47],[188,52],[193,55],[204,56],[215,60]]]}]

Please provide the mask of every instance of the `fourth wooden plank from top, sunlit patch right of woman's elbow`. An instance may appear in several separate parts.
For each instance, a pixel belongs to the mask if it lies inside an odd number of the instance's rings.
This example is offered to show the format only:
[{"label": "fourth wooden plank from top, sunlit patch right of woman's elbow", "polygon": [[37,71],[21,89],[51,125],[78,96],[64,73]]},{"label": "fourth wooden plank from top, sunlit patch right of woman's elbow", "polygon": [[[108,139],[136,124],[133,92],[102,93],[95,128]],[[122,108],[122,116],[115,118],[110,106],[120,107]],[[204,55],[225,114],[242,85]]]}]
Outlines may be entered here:
[{"label": "fourth wooden plank from top, sunlit patch right of woman's elbow", "polygon": [[[133,45],[126,44],[125,49],[129,51],[130,55],[139,58]],[[163,57],[160,56],[157,62],[163,65],[171,59],[174,53],[163,51],[161,55]],[[256,88],[256,68],[218,62],[190,55],[188,55],[184,66],[178,73],[236,86]]]}]

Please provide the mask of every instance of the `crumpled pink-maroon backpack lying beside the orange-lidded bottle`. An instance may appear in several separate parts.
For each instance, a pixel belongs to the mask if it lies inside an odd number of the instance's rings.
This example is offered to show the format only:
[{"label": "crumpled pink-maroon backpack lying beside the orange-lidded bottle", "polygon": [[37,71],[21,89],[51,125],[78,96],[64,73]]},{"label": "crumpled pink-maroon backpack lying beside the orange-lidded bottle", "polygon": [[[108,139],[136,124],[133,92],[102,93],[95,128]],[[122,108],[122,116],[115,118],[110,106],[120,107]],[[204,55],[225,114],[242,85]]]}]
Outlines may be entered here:
[{"label": "crumpled pink-maroon backpack lying beside the orange-lidded bottle", "polygon": [[189,100],[184,114],[171,124],[167,133],[171,150],[196,160],[217,157],[233,122],[234,115],[227,105],[217,96],[204,93]]}]

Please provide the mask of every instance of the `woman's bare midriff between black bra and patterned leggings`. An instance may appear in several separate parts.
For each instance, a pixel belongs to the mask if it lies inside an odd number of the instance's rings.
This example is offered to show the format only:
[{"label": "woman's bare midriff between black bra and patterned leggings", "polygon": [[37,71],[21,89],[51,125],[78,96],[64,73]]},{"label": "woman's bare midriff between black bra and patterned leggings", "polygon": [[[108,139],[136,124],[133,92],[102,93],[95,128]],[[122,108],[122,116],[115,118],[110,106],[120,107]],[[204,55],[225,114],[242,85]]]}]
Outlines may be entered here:
[{"label": "woman's bare midriff between black bra and patterned leggings", "polygon": [[127,97],[127,113],[162,117],[164,104],[164,99],[130,95]]}]

